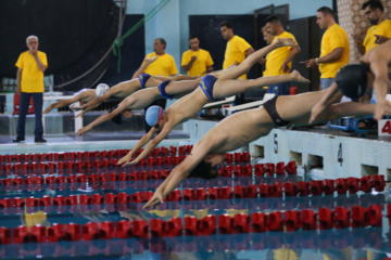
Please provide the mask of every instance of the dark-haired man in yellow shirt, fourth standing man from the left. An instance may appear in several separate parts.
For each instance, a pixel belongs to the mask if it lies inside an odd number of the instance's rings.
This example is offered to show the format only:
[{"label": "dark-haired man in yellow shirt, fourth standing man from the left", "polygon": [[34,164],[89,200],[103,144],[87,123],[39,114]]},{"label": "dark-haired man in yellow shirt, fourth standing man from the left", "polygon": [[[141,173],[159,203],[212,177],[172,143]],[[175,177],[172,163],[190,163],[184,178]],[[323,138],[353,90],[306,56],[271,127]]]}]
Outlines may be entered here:
[{"label": "dark-haired man in yellow shirt, fourth standing man from the left", "polygon": [[[232,24],[229,22],[220,23],[222,36],[227,40],[227,47],[224,54],[223,69],[228,68],[231,65],[241,64],[245,57],[250,56],[254,49],[243,38],[234,35]],[[247,75],[243,74],[241,79],[247,79]]]}]

